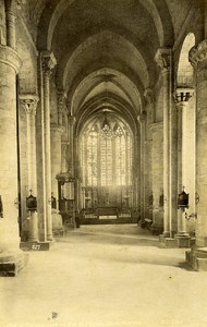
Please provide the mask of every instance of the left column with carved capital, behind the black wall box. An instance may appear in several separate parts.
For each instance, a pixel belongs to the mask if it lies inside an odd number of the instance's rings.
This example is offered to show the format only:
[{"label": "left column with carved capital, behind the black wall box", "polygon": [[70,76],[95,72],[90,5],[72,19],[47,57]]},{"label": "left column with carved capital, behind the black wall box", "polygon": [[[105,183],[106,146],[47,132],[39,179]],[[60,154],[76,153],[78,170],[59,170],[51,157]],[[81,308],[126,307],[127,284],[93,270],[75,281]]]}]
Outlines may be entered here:
[{"label": "left column with carved capital, behind the black wall box", "polygon": [[[37,196],[37,167],[36,167],[36,108],[39,100],[37,95],[20,95],[21,106],[26,113],[27,122],[27,168],[28,190],[33,196]],[[29,194],[28,194],[29,195]],[[37,199],[38,203],[38,199]],[[29,241],[38,241],[38,215],[37,211],[29,213]]]}]

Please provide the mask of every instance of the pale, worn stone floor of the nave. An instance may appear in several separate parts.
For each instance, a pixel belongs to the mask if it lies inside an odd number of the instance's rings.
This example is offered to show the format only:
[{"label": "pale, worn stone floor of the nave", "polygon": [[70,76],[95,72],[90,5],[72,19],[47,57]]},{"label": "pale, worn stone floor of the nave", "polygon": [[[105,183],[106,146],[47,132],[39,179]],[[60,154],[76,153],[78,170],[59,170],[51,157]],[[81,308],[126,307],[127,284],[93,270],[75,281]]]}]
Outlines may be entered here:
[{"label": "pale, worn stone floor of the nave", "polygon": [[82,226],[0,278],[0,326],[207,326],[207,274],[135,225]]}]

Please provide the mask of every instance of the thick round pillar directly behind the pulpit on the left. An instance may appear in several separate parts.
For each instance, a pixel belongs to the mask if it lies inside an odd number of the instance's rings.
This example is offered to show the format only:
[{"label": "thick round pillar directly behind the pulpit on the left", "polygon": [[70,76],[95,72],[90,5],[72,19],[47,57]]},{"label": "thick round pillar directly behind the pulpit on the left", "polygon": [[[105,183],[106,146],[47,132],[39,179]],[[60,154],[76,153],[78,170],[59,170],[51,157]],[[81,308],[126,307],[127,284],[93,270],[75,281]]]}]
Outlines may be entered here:
[{"label": "thick round pillar directly behind the pulpit on the left", "polygon": [[61,173],[61,135],[62,126],[51,124],[51,191],[58,199],[58,181],[57,174]]}]

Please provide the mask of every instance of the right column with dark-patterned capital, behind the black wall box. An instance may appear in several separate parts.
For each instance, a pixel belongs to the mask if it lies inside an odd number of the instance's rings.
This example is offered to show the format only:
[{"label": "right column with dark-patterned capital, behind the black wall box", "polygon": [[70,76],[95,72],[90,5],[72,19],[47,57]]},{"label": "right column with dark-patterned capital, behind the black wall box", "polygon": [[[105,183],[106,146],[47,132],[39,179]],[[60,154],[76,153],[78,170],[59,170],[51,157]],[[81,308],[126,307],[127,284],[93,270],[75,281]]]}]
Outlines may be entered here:
[{"label": "right column with dark-patterned capital, behind the black wall box", "polygon": [[[174,100],[178,108],[178,194],[183,191],[185,183],[185,171],[187,170],[186,165],[186,110],[190,98],[192,97],[193,89],[178,88],[175,92]],[[193,178],[193,177],[192,177]],[[186,190],[187,191],[187,190]],[[178,239],[179,247],[190,246],[190,235],[186,229],[186,217],[185,209],[180,208],[178,210]]]}]

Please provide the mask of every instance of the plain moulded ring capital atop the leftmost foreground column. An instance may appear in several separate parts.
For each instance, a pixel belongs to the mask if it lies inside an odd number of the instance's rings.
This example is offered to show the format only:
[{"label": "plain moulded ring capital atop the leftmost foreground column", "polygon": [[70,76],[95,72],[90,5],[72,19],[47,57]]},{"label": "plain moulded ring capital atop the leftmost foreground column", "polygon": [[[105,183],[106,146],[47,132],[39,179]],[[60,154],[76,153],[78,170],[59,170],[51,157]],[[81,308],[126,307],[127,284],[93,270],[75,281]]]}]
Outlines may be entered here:
[{"label": "plain moulded ring capital atop the leftmost foreground column", "polygon": [[16,73],[19,72],[22,65],[22,60],[19,53],[14,49],[1,45],[0,45],[0,62],[10,65],[15,70]]}]

